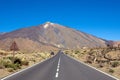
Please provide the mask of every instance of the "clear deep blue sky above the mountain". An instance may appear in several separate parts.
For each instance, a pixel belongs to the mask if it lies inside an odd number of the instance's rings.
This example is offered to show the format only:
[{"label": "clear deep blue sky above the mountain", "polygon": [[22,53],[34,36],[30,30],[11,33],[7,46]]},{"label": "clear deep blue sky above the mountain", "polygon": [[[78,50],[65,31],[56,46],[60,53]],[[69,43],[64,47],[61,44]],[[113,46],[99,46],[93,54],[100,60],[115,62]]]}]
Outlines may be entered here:
[{"label": "clear deep blue sky above the mountain", "polygon": [[0,0],[0,32],[58,23],[120,40],[120,0]]}]

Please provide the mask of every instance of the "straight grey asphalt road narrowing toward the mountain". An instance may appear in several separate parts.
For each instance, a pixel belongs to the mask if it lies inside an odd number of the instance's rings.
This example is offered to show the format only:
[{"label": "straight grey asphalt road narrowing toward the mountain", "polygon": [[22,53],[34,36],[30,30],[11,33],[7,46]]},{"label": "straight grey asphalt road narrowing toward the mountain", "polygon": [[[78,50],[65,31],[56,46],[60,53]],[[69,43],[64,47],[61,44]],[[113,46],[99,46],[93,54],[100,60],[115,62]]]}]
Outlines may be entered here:
[{"label": "straight grey asphalt road narrowing toward the mountain", "polygon": [[54,57],[1,80],[116,80],[59,52]]}]

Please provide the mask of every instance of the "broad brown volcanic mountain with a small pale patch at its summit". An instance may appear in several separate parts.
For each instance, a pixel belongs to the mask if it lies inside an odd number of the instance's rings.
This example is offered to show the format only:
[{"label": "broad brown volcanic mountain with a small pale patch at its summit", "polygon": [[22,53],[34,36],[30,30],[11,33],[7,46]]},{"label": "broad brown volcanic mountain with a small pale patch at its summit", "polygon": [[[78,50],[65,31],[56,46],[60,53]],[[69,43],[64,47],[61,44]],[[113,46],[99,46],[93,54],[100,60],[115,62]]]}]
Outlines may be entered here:
[{"label": "broad brown volcanic mountain with a small pale patch at its summit", "polygon": [[40,48],[46,50],[46,48],[56,47],[66,49],[105,47],[107,43],[107,40],[51,22],[0,35],[0,48],[9,49],[7,45],[11,44],[10,41],[13,40],[23,50],[39,50]]}]

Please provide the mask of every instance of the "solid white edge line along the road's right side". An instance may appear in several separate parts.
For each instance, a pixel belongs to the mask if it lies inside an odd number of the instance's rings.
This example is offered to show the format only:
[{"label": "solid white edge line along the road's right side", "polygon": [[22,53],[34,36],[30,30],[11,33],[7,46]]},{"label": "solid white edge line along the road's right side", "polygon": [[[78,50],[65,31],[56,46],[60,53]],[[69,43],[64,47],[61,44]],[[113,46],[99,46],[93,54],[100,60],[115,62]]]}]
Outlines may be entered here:
[{"label": "solid white edge line along the road's right side", "polygon": [[72,58],[73,60],[75,60],[75,61],[77,61],[77,62],[80,62],[80,63],[82,63],[82,64],[84,64],[84,65],[86,65],[86,66],[88,66],[88,67],[90,67],[90,68],[92,68],[92,69],[95,69],[96,71],[99,71],[99,72],[101,72],[101,73],[103,73],[103,74],[105,74],[105,75],[107,75],[107,76],[109,76],[109,77],[111,77],[111,78],[114,78],[114,79],[116,79],[116,80],[120,80],[120,79],[118,79],[118,78],[116,78],[116,77],[114,77],[114,76],[111,76],[110,74],[108,74],[108,73],[105,73],[105,72],[103,72],[103,71],[101,71],[101,70],[99,70],[99,69],[97,69],[97,68],[95,68],[95,67],[93,67],[93,66],[90,66],[90,65],[88,65],[88,64],[86,64],[86,63],[84,63],[84,62],[82,62],[82,61],[80,61],[80,60],[77,60],[77,59],[75,59],[75,58],[73,58],[73,57],[71,57],[71,56],[69,56],[69,55],[67,55],[68,57],[70,57],[70,58]]}]

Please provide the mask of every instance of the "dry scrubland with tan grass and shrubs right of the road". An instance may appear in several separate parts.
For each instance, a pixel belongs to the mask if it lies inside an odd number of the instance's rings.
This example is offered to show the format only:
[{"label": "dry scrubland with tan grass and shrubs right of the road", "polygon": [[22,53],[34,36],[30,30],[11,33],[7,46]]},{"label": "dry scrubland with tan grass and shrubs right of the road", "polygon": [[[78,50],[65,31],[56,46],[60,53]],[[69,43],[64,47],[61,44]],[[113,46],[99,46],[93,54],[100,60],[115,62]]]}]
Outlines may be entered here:
[{"label": "dry scrubland with tan grass and shrubs right of the road", "polygon": [[66,50],[66,54],[120,78],[120,48]]}]

